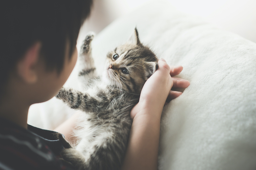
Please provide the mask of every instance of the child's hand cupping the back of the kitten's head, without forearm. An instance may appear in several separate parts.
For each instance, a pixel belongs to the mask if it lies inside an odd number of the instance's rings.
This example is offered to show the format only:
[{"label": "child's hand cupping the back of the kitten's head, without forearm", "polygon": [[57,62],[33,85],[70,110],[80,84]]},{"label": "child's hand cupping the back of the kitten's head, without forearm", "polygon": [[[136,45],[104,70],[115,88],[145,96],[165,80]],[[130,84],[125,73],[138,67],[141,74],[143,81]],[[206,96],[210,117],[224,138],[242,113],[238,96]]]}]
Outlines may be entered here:
[{"label": "child's hand cupping the back of the kitten's head, without forearm", "polygon": [[187,88],[190,85],[187,80],[171,77],[178,75],[183,69],[182,66],[170,67],[164,59],[159,60],[158,65],[158,70],[149,77],[142,88],[140,100],[131,111],[132,119],[149,111],[160,118],[167,97],[171,100],[182,94],[179,91],[172,91],[171,88]]}]

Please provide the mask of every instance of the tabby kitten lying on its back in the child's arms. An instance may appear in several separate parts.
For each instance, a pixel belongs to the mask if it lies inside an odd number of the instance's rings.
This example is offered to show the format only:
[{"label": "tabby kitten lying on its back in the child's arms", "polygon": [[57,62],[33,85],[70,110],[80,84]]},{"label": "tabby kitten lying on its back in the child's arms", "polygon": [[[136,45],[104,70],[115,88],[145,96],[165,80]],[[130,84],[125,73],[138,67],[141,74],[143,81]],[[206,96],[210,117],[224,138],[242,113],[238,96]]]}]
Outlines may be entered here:
[{"label": "tabby kitten lying on its back in the child's arms", "polygon": [[66,143],[62,157],[79,170],[119,170],[132,125],[130,111],[145,81],[157,70],[158,58],[141,44],[135,28],[126,44],[107,54],[103,76],[98,77],[91,56],[93,37],[87,35],[79,57],[84,91],[62,88],[56,96],[87,115],[76,134],[78,145],[72,148]]}]

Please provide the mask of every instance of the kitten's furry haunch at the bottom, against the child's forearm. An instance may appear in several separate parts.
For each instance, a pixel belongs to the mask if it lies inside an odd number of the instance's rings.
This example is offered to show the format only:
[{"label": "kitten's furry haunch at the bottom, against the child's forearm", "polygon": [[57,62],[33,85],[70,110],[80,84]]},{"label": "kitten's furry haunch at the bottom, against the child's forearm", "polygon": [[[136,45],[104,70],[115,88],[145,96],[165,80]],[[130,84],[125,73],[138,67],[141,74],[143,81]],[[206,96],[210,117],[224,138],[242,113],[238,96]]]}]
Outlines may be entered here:
[{"label": "kitten's furry haunch at the bottom, against the child's forearm", "polygon": [[124,134],[103,133],[96,137],[85,153],[83,166],[87,170],[120,170],[125,156],[128,133],[129,131]]}]

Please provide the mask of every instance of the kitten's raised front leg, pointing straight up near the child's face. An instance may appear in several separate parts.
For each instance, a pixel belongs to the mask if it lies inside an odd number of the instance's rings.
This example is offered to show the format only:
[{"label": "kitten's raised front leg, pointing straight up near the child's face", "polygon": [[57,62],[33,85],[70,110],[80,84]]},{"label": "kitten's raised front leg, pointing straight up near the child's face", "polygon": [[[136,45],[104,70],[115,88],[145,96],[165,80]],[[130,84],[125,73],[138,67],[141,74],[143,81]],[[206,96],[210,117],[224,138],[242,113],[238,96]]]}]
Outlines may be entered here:
[{"label": "kitten's raised front leg, pointing straight up near the child's face", "polygon": [[79,79],[82,81],[83,86],[90,84],[91,80],[96,79],[97,72],[94,66],[94,60],[92,58],[91,42],[94,38],[94,33],[90,32],[85,37],[83,45],[81,45],[79,62],[80,72],[78,74]]}]

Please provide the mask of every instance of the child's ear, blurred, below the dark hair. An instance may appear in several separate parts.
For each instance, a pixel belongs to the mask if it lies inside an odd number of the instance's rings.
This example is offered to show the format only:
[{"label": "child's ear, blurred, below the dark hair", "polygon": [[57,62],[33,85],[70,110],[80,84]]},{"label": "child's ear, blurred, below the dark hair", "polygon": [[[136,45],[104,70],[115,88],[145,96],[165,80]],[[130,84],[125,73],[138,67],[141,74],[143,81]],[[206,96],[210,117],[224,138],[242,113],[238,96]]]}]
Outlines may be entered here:
[{"label": "child's ear, blurred, below the dark hair", "polygon": [[35,42],[23,55],[23,58],[17,64],[18,75],[23,81],[31,84],[36,82],[36,64],[39,60],[41,43]]}]

